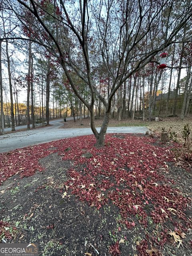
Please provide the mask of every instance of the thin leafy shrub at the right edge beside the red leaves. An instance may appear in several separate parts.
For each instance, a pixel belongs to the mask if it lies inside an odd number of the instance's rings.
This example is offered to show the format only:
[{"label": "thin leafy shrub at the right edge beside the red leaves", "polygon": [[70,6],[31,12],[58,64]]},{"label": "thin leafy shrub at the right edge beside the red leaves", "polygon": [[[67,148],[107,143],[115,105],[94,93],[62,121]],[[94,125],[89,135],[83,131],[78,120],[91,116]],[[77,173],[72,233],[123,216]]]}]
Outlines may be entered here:
[{"label": "thin leafy shrub at the right edge beside the red leaves", "polygon": [[186,161],[192,160],[192,137],[189,124],[186,124],[182,130],[184,144],[182,145],[183,156]]}]

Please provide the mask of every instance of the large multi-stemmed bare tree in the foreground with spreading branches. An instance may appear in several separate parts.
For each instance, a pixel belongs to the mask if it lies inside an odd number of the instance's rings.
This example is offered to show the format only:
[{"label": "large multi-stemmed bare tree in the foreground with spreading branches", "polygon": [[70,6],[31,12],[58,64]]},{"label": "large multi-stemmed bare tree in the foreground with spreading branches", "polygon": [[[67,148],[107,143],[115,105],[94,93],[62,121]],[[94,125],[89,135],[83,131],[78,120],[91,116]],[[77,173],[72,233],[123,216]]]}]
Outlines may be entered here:
[{"label": "large multi-stemmed bare tree in the foreground with spreading branches", "polygon": [[[80,0],[78,4],[74,2],[72,8],[68,8],[63,0],[55,0],[54,8],[47,8],[51,5],[49,1],[46,1],[46,5],[44,1],[34,0],[5,2],[14,11],[22,27],[33,34],[33,41],[44,46],[60,62],[74,93],[90,112],[96,146],[104,145],[110,115],[117,104],[117,101],[113,101],[117,90],[158,52],[174,40],[182,40],[182,28],[192,16],[192,3],[188,0]],[[33,23],[30,16],[33,17]],[[151,30],[154,31],[152,34]],[[146,42],[150,47],[144,49]],[[77,56],[81,56],[81,65],[76,63]],[[108,98],[96,90],[92,77],[95,59],[102,61],[108,71]],[[90,102],[82,97],[71,70],[88,85]],[[100,132],[94,124],[96,98],[105,108]]]}]

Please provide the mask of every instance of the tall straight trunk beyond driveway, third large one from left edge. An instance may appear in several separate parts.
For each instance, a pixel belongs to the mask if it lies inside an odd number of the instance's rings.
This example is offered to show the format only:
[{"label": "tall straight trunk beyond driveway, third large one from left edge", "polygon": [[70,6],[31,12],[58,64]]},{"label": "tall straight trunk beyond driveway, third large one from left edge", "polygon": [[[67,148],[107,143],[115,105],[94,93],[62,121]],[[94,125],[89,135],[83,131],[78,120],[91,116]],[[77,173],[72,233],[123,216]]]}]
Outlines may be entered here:
[{"label": "tall straight trunk beyond driveway, third large one from left edge", "polygon": [[30,74],[31,74],[31,44],[29,41],[29,61],[28,61],[28,77],[27,77],[27,130],[30,130]]}]

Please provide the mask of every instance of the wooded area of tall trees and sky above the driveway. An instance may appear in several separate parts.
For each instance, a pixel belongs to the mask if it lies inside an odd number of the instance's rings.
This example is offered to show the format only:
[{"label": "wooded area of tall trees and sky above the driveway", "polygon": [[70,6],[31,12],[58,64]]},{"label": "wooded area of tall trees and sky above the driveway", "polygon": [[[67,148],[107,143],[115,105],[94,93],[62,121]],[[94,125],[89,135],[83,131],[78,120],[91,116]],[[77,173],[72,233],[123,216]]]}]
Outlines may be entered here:
[{"label": "wooded area of tall trees and sky above the driveway", "polygon": [[[6,126],[30,129],[50,118],[90,115],[100,146],[110,117],[183,119],[192,112],[190,1],[5,0],[0,6],[2,134]],[[161,52],[168,53],[165,69],[158,68]],[[95,115],[104,117],[100,133]]]}]

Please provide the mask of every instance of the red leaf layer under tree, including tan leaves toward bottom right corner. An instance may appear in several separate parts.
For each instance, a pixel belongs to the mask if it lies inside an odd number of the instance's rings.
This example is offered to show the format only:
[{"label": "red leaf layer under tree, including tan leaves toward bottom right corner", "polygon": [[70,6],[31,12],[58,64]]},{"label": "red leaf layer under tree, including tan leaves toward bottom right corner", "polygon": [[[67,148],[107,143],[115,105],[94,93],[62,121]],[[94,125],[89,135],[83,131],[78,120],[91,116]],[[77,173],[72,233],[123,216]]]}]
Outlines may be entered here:
[{"label": "red leaf layer under tree, including tan leaves toward bottom right corner", "polygon": [[[95,142],[94,136],[82,136],[0,154],[1,182],[15,174],[24,177],[42,171],[38,160],[58,152],[62,160],[73,162],[65,189],[60,191],[62,198],[74,194],[97,210],[114,204],[120,211],[120,226],[143,232],[134,255],[162,255],[166,243],[179,247],[184,232],[191,228],[186,215],[190,198],[163,175],[168,163],[175,161],[174,145],[162,146],[154,138],[131,134],[107,135],[106,145],[99,149]],[[120,255],[118,242],[110,246],[109,253]]]}]

